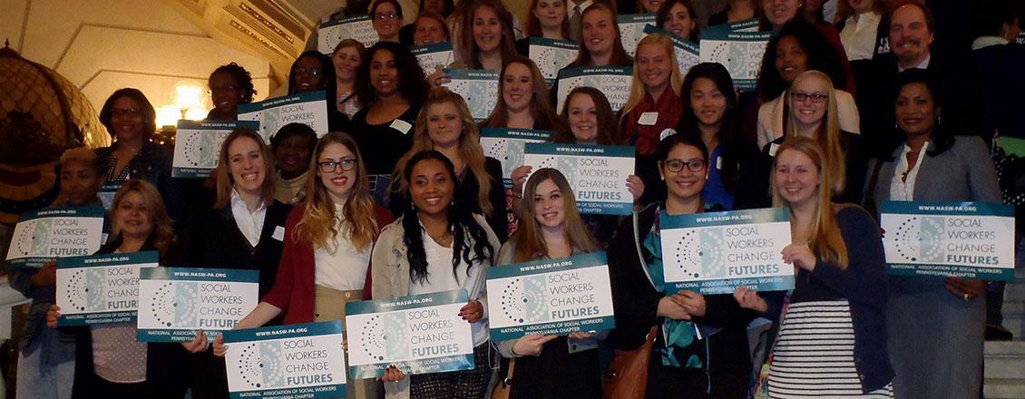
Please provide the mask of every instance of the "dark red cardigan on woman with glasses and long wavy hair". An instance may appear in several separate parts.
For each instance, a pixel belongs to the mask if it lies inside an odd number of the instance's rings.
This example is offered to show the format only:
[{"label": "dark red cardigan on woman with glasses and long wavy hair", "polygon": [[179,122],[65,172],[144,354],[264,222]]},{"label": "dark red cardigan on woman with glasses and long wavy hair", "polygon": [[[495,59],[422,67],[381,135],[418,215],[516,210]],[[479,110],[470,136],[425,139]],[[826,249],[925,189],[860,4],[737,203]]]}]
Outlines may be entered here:
[{"label": "dark red cardigan on woman with glasses and long wavy hair", "polygon": [[[292,237],[295,225],[302,220],[306,205],[298,205],[288,213],[285,222],[285,246],[281,253],[281,264],[278,265],[278,277],[274,287],[263,296],[263,302],[274,305],[285,312],[285,324],[311,323],[314,321],[314,310],[317,298],[314,288],[314,245],[306,240]],[[392,212],[380,205],[374,205],[374,220],[378,232],[395,221]],[[367,267],[366,286],[370,286],[370,270]],[[370,291],[364,289],[364,300],[370,298]]]}]

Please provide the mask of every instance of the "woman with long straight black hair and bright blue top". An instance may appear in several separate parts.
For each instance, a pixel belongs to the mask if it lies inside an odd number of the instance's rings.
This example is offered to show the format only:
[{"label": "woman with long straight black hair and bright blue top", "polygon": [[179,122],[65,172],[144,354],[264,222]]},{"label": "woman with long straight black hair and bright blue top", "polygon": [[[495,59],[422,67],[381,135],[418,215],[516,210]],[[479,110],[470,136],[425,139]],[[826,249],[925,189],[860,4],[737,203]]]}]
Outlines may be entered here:
[{"label": "woman with long straight black hair and bright blue top", "polygon": [[676,131],[699,137],[709,150],[701,199],[729,210],[768,206],[767,166],[740,135],[737,92],[726,67],[702,63],[691,68],[681,91],[684,113]]}]

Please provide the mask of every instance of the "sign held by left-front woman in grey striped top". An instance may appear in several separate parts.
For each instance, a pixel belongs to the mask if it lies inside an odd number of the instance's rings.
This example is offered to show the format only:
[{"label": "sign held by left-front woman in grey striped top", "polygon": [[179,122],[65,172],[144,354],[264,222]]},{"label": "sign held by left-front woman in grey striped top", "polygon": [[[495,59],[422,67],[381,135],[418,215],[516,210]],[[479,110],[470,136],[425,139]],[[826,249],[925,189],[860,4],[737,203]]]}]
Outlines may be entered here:
[{"label": "sign held by left-front woman in grey striped top", "polygon": [[57,260],[57,326],[134,323],[139,272],[159,260],[157,251]]}]

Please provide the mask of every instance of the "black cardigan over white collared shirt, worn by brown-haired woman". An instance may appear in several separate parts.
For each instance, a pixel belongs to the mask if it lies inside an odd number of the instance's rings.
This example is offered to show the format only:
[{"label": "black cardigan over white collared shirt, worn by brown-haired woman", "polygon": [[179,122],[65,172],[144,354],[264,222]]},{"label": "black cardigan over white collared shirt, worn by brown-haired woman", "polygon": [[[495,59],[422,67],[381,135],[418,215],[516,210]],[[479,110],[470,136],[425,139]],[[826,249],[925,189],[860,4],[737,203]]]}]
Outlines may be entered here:
[{"label": "black cardigan over white collared shirt, worn by brown-haired woman", "polygon": [[[285,220],[291,210],[291,205],[278,201],[268,206],[259,242],[253,247],[235,224],[231,205],[221,209],[206,206],[194,209],[183,232],[180,266],[258,270],[259,297],[263,297],[278,275]],[[276,230],[280,231],[279,238],[274,238]]]}]

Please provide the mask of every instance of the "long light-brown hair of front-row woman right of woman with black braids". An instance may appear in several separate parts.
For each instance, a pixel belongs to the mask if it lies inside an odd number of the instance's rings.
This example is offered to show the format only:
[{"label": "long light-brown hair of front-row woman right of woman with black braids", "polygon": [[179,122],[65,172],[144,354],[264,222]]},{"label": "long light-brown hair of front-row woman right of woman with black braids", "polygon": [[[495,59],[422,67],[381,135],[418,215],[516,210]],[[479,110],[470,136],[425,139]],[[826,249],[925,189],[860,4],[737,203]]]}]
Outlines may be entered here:
[{"label": "long light-brown hair of front-row woman right of woman with black braids", "polygon": [[566,176],[559,170],[552,168],[537,169],[530,175],[526,187],[523,189],[523,201],[520,207],[520,229],[509,238],[516,245],[514,262],[524,263],[537,260],[548,253],[548,245],[541,236],[541,227],[537,224],[537,214],[534,212],[534,196],[537,194],[537,186],[544,181],[551,181],[563,194],[563,236],[570,247],[583,252],[594,252],[601,250],[594,238],[590,236],[590,231],[583,225],[580,218],[580,211],[577,209],[576,197],[573,196],[573,188],[570,187]]}]

